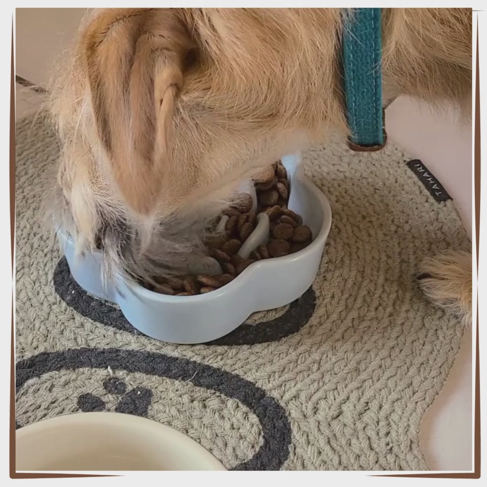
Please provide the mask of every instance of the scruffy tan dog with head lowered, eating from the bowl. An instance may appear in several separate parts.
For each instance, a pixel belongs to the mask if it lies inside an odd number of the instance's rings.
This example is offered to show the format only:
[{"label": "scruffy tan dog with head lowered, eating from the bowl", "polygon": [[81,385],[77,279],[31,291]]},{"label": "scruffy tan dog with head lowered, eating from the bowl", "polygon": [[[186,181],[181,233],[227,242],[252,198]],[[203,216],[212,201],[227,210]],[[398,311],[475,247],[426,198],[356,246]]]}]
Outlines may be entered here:
[{"label": "scruffy tan dog with head lowered, eating from the bowl", "polygon": [[[178,272],[238,184],[347,135],[345,9],[102,9],[52,87],[62,142],[56,220],[105,273]],[[470,9],[383,9],[385,99],[471,104]],[[170,263],[170,265],[168,264]],[[430,298],[471,312],[471,256],[426,263]]]}]

